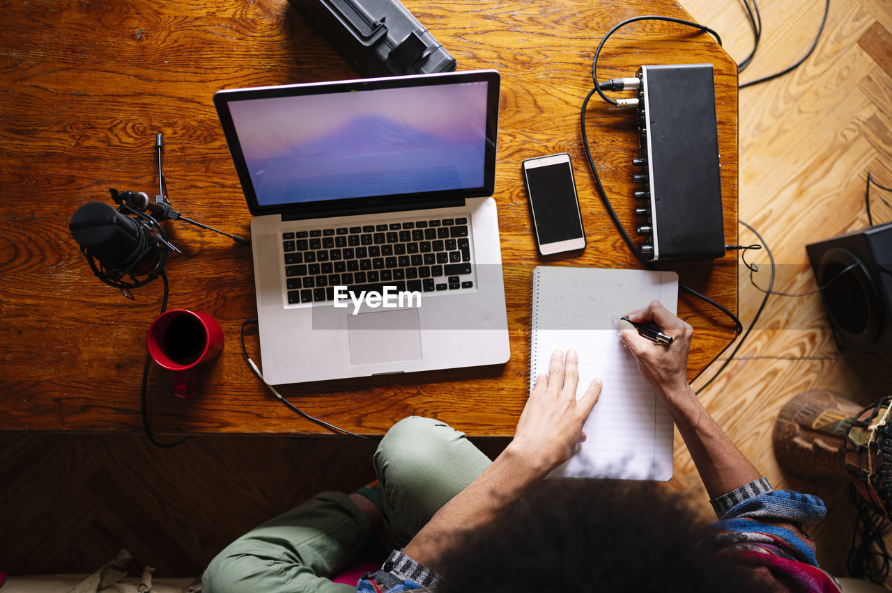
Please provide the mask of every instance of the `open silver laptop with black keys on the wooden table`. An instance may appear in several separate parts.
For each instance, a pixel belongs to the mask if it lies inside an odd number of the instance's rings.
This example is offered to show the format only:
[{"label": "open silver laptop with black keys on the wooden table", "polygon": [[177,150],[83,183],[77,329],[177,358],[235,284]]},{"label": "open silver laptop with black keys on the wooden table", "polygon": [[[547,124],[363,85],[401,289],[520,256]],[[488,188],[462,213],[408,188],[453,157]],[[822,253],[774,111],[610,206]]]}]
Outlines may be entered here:
[{"label": "open silver laptop with black keys on the wooden table", "polygon": [[495,70],[223,90],[273,385],[508,361]]}]

